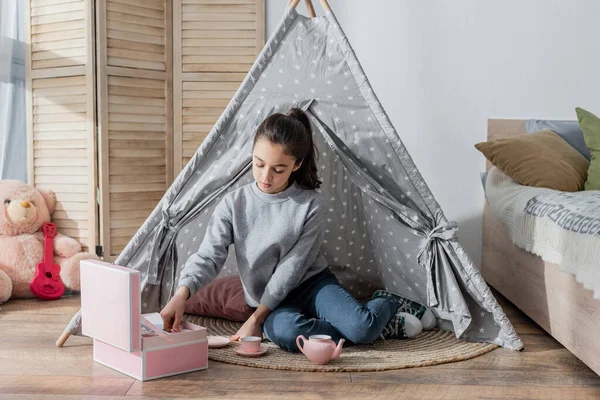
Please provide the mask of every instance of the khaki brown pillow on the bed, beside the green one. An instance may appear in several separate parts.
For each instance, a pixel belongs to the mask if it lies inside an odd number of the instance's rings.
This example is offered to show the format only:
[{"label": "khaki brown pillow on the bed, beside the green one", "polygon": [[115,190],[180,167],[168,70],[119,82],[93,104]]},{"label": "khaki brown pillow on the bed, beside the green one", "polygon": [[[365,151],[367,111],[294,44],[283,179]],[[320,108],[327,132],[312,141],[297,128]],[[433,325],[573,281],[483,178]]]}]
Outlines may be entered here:
[{"label": "khaki brown pillow on the bed, beside the green one", "polygon": [[564,192],[583,189],[590,164],[550,130],[477,143],[475,148],[521,185]]}]

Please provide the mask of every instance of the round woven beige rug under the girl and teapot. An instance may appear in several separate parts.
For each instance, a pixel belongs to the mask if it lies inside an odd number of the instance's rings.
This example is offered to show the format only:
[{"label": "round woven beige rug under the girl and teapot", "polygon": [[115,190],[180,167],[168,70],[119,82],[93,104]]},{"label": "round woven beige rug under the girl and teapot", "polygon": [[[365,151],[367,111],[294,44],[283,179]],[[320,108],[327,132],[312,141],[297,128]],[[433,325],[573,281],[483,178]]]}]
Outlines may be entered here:
[{"label": "round woven beige rug under the girl and teapot", "polygon": [[[197,315],[185,315],[184,320],[204,326],[209,335],[215,336],[231,336],[242,326],[239,322]],[[238,355],[233,350],[237,345],[232,343],[221,349],[209,349],[208,358],[229,364],[290,371],[385,371],[467,360],[498,347],[490,343],[459,340],[453,332],[435,330],[423,332],[410,340],[377,340],[372,344],[344,347],[338,359],[327,365],[315,365],[304,354],[289,353],[269,341],[264,343],[268,348],[265,355],[257,358]]]}]

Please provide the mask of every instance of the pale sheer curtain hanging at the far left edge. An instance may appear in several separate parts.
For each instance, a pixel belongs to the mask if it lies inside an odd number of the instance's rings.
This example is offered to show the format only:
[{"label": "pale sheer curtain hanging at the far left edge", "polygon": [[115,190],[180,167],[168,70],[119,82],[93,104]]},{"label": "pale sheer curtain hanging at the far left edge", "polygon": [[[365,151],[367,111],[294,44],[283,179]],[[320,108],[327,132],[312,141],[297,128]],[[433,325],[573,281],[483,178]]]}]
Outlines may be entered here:
[{"label": "pale sheer curtain hanging at the far left edge", "polygon": [[0,179],[27,181],[23,0],[0,0]]}]

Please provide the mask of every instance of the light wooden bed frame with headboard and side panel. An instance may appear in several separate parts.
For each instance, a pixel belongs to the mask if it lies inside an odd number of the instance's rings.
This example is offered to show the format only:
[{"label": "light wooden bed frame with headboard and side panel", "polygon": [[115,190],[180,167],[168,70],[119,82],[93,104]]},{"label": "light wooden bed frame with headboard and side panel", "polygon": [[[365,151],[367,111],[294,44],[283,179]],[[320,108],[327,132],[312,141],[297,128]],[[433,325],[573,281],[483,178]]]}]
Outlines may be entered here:
[{"label": "light wooden bed frame with headboard and side panel", "polygon": [[[488,140],[525,133],[521,120],[488,121]],[[514,245],[487,201],[482,274],[489,285],[600,375],[600,301],[573,275]]]}]

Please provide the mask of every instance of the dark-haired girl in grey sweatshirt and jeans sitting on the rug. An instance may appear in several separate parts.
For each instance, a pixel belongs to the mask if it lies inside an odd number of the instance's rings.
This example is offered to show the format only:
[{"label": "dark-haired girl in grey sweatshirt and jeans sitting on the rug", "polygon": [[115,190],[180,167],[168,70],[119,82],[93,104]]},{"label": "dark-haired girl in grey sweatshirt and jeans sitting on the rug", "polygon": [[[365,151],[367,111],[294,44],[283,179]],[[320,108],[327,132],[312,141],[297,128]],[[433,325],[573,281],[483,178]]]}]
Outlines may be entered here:
[{"label": "dark-haired girl in grey sweatshirt and jeans sitting on the rug", "polygon": [[362,306],[327,268],[320,251],[325,217],[315,190],[321,185],[316,148],[302,110],[261,123],[252,164],[256,182],[223,198],[200,249],[185,264],[175,295],[161,311],[166,331],[179,331],[186,300],[219,274],[233,243],[246,302],[256,310],[232,340],[264,332],[283,349],[298,351],[298,335],[369,343],[433,327],[431,311],[388,292],[376,292]]}]

